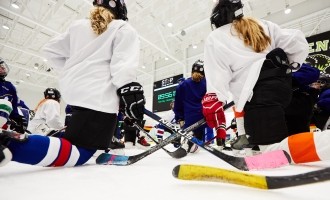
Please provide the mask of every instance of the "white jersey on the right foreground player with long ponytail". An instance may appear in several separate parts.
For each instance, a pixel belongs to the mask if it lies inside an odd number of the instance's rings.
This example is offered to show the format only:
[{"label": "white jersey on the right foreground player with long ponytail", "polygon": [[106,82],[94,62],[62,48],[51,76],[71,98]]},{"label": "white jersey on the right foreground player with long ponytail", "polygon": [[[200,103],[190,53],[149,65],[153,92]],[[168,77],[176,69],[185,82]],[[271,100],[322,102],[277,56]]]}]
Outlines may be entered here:
[{"label": "white jersey on the right foreground player with long ponytail", "polygon": [[259,21],[271,38],[271,45],[256,53],[246,46],[232,24],[214,30],[208,36],[204,49],[204,68],[207,77],[207,92],[216,93],[219,101],[225,102],[233,96],[236,111],[241,112],[251,100],[253,88],[259,77],[266,54],[282,48],[290,63],[303,63],[308,55],[308,43],[300,30],[281,29],[269,21]]}]

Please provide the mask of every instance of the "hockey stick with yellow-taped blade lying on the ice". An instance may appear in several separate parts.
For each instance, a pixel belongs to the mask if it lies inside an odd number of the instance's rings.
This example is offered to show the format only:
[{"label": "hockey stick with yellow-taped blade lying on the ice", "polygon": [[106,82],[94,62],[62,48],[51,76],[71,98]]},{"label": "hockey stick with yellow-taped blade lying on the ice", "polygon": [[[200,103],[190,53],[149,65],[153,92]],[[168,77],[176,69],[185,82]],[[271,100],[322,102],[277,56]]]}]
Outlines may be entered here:
[{"label": "hockey stick with yellow-taped blade lying on the ice", "polygon": [[263,176],[216,167],[178,165],[172,174],[182,180],[224,182],[270,190],[330,180],[330,167],[297,175]]}]

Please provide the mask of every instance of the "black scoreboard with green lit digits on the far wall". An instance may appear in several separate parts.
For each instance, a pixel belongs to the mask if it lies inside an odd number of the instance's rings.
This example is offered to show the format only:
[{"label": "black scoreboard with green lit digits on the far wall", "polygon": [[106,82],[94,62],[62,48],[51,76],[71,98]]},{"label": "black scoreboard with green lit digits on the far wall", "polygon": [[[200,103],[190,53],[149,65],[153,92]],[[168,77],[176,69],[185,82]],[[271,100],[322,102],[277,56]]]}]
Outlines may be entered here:
[{"label": "black scoreboard with green lit digits on the far wall", "polygon": [[181,78],[183,74],[154,82],[153,112],[170,110],[170,103],[174,100],[176,86]]}]

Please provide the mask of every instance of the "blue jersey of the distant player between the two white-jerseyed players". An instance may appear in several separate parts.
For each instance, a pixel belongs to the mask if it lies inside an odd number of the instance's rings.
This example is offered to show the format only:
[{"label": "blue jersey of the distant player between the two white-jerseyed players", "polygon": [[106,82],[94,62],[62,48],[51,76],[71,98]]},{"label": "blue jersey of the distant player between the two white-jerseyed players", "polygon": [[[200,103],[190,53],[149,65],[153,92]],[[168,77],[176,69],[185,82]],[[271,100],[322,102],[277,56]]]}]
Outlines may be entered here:
[{"label": "blue jersey of the distant player between the two white-jerseyed players", "polygon": [[[182,81],[176,88],[174,113],[175,120],[184,120],[184,127],[204,118],[202,99],[206,93],[206,79],[195,82],[191,78]],[[205,128],[205,127],[204,127]]]}]

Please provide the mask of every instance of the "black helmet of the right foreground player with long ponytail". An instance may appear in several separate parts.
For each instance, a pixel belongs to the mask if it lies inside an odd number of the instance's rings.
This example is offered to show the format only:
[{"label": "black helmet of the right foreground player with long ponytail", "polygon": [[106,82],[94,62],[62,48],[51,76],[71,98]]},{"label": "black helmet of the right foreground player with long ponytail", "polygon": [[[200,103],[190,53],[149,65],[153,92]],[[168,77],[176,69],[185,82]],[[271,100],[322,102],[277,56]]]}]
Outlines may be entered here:
[{"label": "black helmet of the right foreground player with long ponytail", "polygon": [[243,17],[243,4],[241,0],[219,0],[212,10],[211,25],[216,28],[232,23],[235,19]]}]

